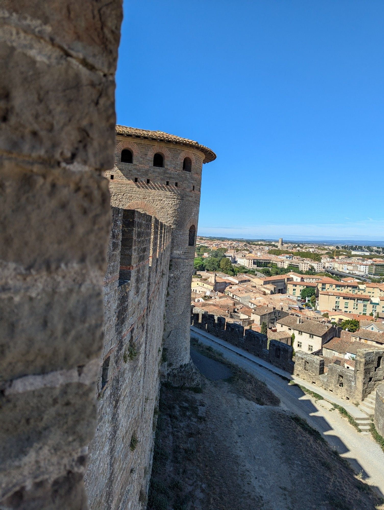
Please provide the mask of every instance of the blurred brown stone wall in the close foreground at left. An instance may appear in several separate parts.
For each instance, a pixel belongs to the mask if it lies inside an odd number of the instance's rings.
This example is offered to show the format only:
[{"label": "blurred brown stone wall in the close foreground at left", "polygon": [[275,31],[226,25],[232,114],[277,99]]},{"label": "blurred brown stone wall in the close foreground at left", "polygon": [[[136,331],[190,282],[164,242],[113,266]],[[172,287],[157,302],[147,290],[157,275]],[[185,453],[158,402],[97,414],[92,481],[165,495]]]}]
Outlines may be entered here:
[{"label": "blurred brown stone wall in the close foreground at left", "polygon": [[2,508],[87,507],[121,4],[2,2]]}]

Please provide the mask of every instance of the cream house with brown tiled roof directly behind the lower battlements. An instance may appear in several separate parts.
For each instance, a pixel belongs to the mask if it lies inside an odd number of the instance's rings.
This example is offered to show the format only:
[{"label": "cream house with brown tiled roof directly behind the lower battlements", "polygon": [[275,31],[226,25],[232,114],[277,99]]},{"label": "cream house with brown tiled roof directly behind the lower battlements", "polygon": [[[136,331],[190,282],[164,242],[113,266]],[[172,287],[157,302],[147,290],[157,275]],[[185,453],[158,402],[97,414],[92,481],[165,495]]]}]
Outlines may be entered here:
[{"label": "cream house with brown tiled roof directly behind the lower battlements", "polygon": [[293,348],[307,352],[319,351],[323,344],[333,338],[337,329],[329,324],[316,320],[302,319],[294,315],[287,315],[277,321],[278,331],[288,331],[295,334]]}]

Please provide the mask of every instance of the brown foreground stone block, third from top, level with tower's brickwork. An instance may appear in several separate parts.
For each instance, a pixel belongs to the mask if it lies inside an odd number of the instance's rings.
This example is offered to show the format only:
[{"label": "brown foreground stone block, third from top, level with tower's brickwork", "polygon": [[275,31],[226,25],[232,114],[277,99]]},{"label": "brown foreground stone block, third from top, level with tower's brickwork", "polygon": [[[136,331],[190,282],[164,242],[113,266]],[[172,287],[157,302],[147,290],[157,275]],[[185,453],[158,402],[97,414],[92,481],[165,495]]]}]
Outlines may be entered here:
[{"label": "brown foreground stone block, third from top, level with tower's brickwork", "polygon": [[67,264],[106,269],[108,183],[76,172],[12,159],[0,161],[0,260],[27,270]]}]

